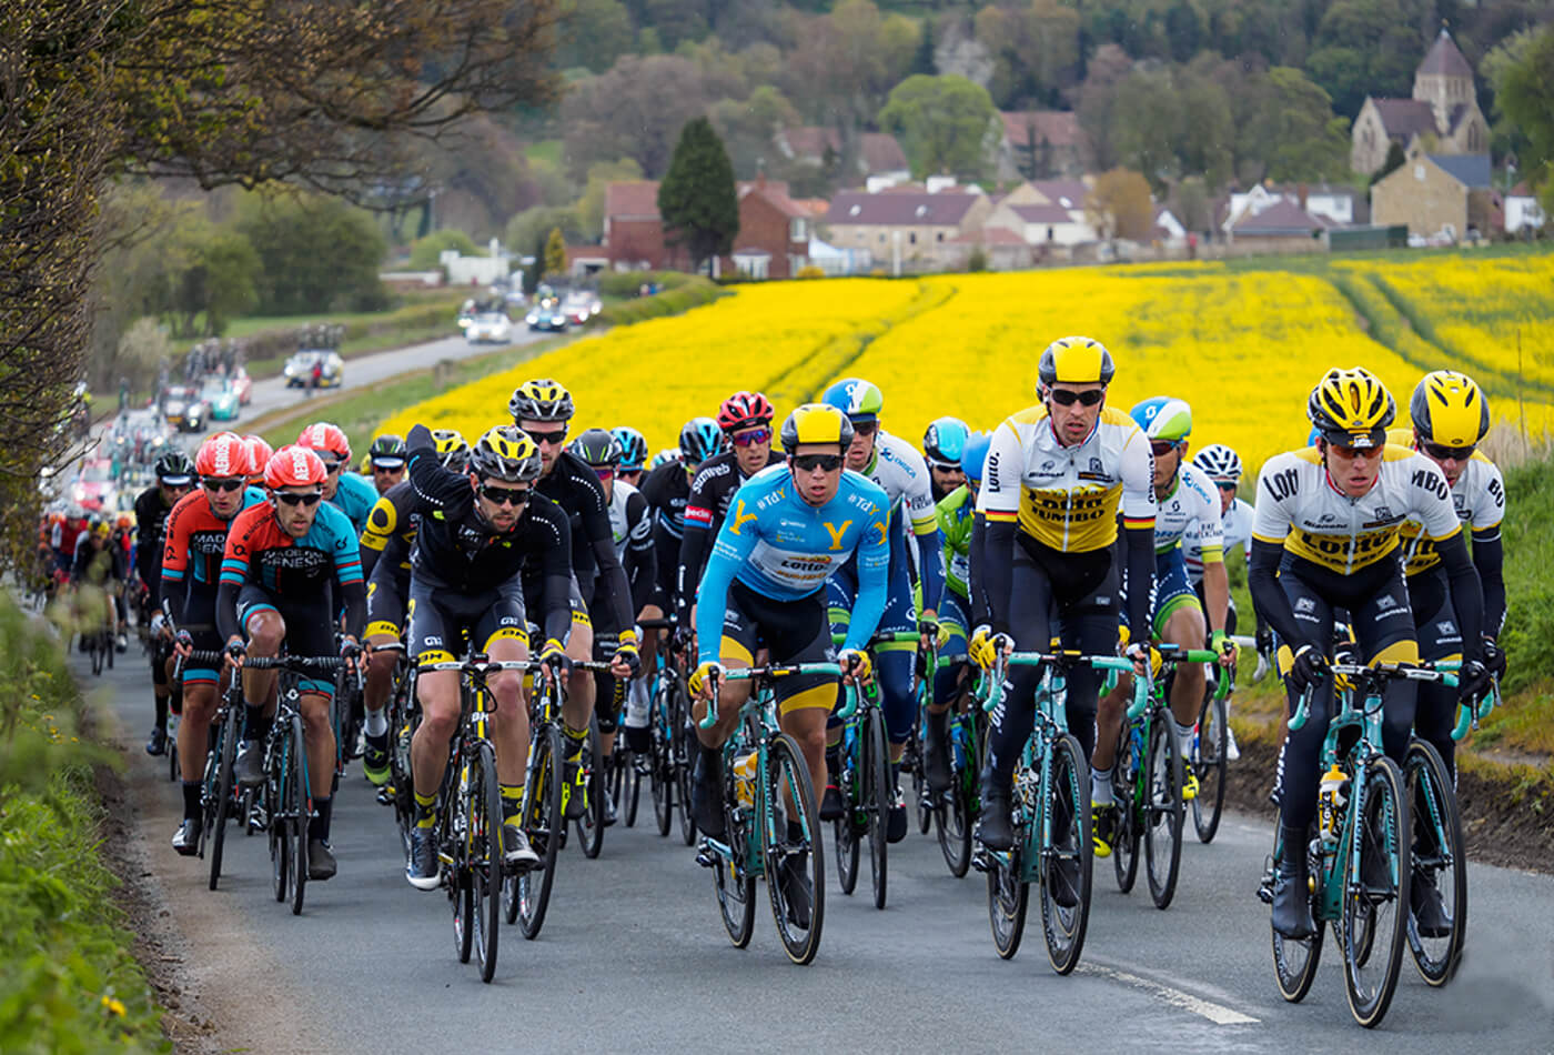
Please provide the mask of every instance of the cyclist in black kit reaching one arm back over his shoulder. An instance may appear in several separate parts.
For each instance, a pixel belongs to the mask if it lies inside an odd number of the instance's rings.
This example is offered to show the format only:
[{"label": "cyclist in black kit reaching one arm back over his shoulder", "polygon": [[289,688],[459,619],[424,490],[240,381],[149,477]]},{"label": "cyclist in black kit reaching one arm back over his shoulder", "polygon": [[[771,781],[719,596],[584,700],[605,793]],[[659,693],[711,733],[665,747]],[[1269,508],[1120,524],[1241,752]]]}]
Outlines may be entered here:
[{"label": "cyclist in black kit reaching one arm back over his shoulder", "polygon": [[[476,441],[468,469],[440,465],[432,433],[415,426],[409,435],[413,511],[420,517],[410,558],[410,648],[420,662],[454,659],[468,639],[494,660],[528,657],[528,615],[545,635],[539,657],[564,663],[572,623],[572,528],[566,511],[542,494],[541,451],[514,426],[497,426]],[[524,569],[538,567],[536,604],[525,608]],[[547,667],[547,671],[550,668]],[[549,674],[547,676],[555,676]],[[502,858],[508,867],[535,867],[519,820],[528,764],[528,712],[516,671],[493,674],[486,685],[496,701],[491,741],[502,788]],[[448,744],[458,729],[458,674],[427,671],[416,677],[421,726],[410,741],[416,822],[410,833],[406,878],[418,890],[438,883],[437,789],[448,766]],[[567,722],[587,724],[567,701]]]}]

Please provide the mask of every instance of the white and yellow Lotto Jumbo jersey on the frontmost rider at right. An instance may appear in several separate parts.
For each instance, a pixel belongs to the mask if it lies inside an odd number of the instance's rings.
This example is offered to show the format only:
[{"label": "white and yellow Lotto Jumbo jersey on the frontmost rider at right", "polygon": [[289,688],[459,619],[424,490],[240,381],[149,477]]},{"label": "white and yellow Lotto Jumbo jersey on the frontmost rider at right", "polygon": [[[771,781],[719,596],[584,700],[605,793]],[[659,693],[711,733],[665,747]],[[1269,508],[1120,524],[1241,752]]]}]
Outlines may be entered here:
[{"label": "white and yellow Lotto Jumbo jersey on the frontmost rider at right", "polygon": [[1434,461],[1388,444],[1375,485],[1350,499],[1327,477],[1318,449],[1304,447],[1263,463],[1253,538],[1282,544],[1318,567],[1350,575],[1391,555],[1409,519],[1434,541],[1462,530],[1447,479]]}]

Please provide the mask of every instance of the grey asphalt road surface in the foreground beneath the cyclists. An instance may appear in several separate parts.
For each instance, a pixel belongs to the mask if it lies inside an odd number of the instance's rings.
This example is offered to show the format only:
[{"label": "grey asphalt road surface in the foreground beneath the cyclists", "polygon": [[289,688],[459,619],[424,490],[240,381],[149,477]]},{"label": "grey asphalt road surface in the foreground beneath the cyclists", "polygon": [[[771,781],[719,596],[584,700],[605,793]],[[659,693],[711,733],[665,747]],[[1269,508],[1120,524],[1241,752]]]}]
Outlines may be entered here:
[{"label": "grey asphalt road surface in the foreground beneath the cyclists", "polygon": [[867,898],[867,867],[847,898],[827,862],[822,948],[799,968],[782,954],[765,890],[754,942],[729,945],[709,873],[678,837],[645,827],[643,791],[639,825],[611,828],[600,859],[567,845],[541,937],[503,928],[494,984],[482,985],[476,965],[454,957],[446,897],[404,881],[390,811],[354,766],[334,810],[340,872],[308,886],[300,918],[270,895],[266,841],[236,828],[221,889],[207,890],[205,862],[171,850],[179,796],[165,761],[141,750],[149,676],[137,653],[126,659],[85,681],[118,719],[137,803],[129,853],[166,906],[180,1015],[214,1024],[211,1049],[1554,1049],[1554,876],[1472,865],[1461,973],[1430,990],[1406,962],[1391,1013],[1364,1033],[1330,942],[1305,1002],[1279,998],[1268,909],[1256,898],[1271,834],[1239,816],[1212,845],[1189,842],[1167,912],[1150,904],[1142,876],[1120,895],[1099,862],[1069,977],[1046,962],[1035,904],[1019,956],[999,960],[985,883],[974,872],[954,879],[915,828],[890,848],[884,912]]}]

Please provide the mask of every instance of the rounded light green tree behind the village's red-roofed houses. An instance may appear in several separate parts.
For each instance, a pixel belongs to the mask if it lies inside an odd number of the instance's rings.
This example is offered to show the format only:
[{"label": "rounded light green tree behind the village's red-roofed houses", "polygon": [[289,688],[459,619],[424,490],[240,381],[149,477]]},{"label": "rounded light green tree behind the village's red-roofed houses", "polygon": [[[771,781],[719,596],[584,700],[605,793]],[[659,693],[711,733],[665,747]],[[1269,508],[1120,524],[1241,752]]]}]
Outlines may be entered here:
[{"label": "rounded light green tree behind the village's red-roofed houses", "polygon": [[909,76],[880,110],[918,179],[939,172],[982,179],[996,144],[998,110],[981,84],[963,76]]}]

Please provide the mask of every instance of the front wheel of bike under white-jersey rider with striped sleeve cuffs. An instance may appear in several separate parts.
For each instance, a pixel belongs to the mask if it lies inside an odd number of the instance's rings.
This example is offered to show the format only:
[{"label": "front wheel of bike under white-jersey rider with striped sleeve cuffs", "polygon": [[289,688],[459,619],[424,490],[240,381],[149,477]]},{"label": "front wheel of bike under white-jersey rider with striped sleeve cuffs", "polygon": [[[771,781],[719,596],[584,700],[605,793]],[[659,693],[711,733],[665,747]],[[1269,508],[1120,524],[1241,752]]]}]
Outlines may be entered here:
[{"label": "front wheel of bike under white-jersey rider with striped sleeve cuffs", "polygon": [[[1052,744],[1052,755],[1047,763],[1047,792],[1043,810],[1051,819],[1047,833],[1051,839],[1041,839],[1040,831],[1026,836],[1029,847],[1041,841],[1041,935],[1047,943],[1047,960],[1058,974],[1068,974],[1078,965],[1080,952],[1085,949],[1085,929],[1089,924],[1091,873],[1094,865],[1094,845],[1089,830],[1089,772],[1085,755],[1072,733],[1063,733]],[[1035,827],[1035,823],[1033,823]],[[1063,844],[1068,844],[1064,847]],[[1074,859],[1077,875],[1064,878],[1058,869],[1060,859]],[[1063,906],[1057,901],[1057,884],[1072,886],[1075,904]]]}]

